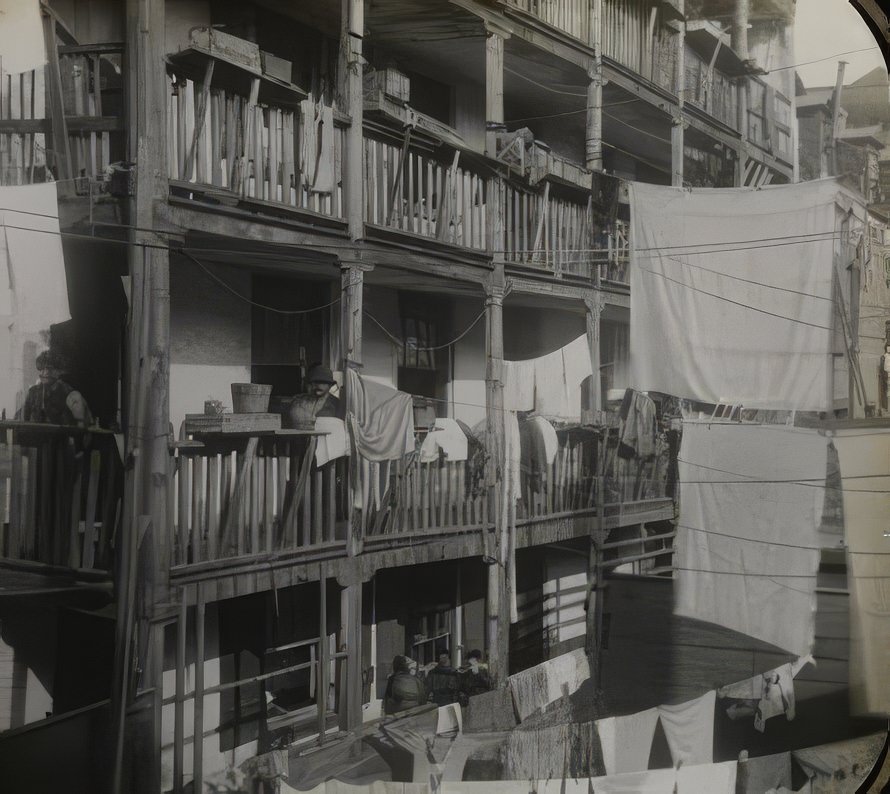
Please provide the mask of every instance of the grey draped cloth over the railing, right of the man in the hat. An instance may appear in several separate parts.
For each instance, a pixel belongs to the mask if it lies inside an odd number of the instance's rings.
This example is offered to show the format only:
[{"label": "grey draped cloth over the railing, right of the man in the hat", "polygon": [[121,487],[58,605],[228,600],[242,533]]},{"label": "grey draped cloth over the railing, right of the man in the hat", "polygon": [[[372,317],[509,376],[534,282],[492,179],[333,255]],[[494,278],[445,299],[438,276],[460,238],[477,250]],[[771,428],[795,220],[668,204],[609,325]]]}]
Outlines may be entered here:
[{"label": "grey draped cloth over the railing, right of the man in the hat", "polygon": [[358,453],[369,461],[398,460],[414,451],[414,401],[410,394],[390,389],[346,370],[346,387],[353,395],[353,433]]}]

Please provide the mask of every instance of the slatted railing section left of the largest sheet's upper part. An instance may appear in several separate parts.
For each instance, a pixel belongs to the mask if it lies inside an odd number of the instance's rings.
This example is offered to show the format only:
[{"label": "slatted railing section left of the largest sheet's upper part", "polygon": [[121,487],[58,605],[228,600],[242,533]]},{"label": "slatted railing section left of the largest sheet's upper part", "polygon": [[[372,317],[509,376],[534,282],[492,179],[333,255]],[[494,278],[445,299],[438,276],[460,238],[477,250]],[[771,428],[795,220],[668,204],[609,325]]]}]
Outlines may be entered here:
[{"label": "slatted railing section left of the largest sheet's upper part", "polygon": [[585,203],[543,191],[507,185],[504,258],[554,273],[593,277],[595,259],[591,201]]}]

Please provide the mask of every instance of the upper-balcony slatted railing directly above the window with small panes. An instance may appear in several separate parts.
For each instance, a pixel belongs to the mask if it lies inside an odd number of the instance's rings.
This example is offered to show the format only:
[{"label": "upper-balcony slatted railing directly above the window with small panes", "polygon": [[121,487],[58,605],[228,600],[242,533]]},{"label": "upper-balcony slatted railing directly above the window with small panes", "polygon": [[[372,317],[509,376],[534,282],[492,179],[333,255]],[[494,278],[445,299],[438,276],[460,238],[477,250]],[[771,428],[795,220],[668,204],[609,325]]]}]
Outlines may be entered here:
[{"label": "upper-balcony slatted railing directly above the window with small panes", "polygon": [[460,166],[365,138],[365,221],[452,245],[486,247],[486,181]]}]

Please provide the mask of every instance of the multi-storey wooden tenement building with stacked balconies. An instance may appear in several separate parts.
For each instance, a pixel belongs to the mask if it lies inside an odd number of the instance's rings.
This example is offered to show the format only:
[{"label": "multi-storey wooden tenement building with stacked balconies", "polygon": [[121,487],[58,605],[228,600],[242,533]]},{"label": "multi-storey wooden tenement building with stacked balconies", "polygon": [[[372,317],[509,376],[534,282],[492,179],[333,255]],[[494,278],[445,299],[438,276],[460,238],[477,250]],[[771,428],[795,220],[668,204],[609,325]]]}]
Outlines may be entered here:
[{"label": "multi-storey wooden tenement building with stacked balconies", "polygon": [[[46,788],[200,789],[360,725],[397,653],[480,647],[503,682],[584,645],[605,572],[669,588],[676,439],[659,432],[655,465],[616,455],[620,180],[792,181],[790,71],[763,71],[792,57],[793,8],[52,0],[46,115],[43,70],[9,81],[0,174],[57,182],[72,320],[52,341],[108,459],[53,479],[67,434],[35,448],[3,425],[2,484],[30,496],[3,515],[21,579],[0,593],[0,758]],[[585,336],[594,374],[552,423],[553,462],[523,448],[511,521],[504,362]],[[315,362],[350,410],[352,369],[414,395],[419,440],[460,420],[479,454],[315,465],[299,435],[187,420],[232,383],[280,402]],[[46,542],[60,527],[64,549]],[[28,763],[46,746],[64,755]]]}]

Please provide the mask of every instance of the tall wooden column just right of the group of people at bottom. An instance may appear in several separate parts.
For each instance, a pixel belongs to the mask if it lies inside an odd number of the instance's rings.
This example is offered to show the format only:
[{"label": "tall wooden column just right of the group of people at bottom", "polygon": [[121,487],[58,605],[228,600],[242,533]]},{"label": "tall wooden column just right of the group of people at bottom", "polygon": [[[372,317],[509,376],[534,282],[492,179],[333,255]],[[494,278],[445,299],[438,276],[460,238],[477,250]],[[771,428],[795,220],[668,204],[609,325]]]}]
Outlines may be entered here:
[{"label": "tall wooden column just right of the group of people at bottom", "polygon": [[[506,504],[503,482],[506,474],[504,448],[504,325],[503,300],[505,277],[502,264],[495,264],[485,301],[485,354],[487,360],[485,407],[487,412],[489,516],[494,516],[494,544],[487,544],[494,554],[487,560],[488,599],[486,644],[488,664],[495,686],[504,686],[509,669],[509,602],[507,599],[508,524],[510,506]],[[487,529],[484,531],[488,531]]]}]

